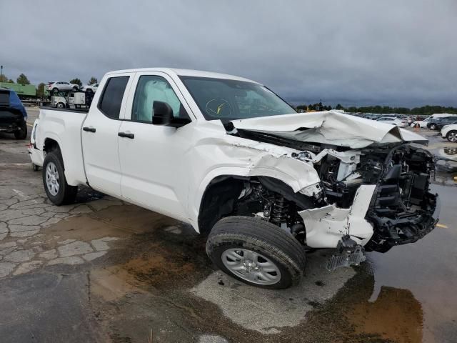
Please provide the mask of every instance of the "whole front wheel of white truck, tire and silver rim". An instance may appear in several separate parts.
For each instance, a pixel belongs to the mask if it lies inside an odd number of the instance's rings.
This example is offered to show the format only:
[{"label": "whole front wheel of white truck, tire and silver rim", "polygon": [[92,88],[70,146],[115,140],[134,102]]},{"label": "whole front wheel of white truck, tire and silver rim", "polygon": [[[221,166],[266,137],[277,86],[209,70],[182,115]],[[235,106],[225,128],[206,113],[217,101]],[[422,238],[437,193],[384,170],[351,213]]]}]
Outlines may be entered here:
[{"label": "whole front wheel of white truck, tire and silver rim", "polygon": [[268,289],[297,284],[305,267],[305,250],[291,234],[253,217],[226,217],[217,222],[206,253],[231,277]]}]

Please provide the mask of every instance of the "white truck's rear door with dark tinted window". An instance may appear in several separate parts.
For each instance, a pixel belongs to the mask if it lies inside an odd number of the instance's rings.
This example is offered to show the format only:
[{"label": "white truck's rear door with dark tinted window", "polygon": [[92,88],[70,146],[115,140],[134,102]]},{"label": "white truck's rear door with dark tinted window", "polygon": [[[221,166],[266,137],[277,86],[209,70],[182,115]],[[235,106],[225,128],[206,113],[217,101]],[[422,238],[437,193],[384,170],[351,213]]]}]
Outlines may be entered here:
[{"label": "white truck's rear door with dark tinted window", "polygon": [[81,140],[84,168],[92,188],[121,196],[118,132],[133,74],[115,74],[101,84],[84,121]]}]

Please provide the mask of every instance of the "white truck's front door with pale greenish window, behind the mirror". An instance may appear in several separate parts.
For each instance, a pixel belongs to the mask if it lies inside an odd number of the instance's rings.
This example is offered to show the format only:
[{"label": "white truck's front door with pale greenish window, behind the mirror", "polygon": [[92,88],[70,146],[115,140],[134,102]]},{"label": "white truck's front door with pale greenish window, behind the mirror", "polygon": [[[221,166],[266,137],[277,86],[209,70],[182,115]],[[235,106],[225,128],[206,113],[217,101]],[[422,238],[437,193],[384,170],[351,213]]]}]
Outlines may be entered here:
[{"label": "white truck's front door with pale greenish window, behind the mirror", "polygon": [[194,123],[179,129],[154,125],[152,105],[154,101],[164,101],[175,117],[188,119],[191,110],[174,81],[164,73],[137,73],[131,89],[126,120],[119,129],[122,196],[134,204],[186,221],[191,174],[186,152]]}]

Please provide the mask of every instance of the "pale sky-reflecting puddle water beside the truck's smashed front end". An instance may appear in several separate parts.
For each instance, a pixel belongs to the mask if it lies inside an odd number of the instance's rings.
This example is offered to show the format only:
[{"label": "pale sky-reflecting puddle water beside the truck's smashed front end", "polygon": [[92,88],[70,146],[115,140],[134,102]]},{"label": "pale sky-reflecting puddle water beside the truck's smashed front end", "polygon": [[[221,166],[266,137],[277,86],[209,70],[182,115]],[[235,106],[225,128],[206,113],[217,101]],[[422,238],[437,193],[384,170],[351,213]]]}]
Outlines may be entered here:
[{"label": "pale sky-reflecting puddle water beside the truck's smashed front end", "polygon": [[386,286],[408,289],[423,310],[423,342],[457,342],[456,193],[436,185],[433,192],[441,198],[441,227],[414,244],[368,254],[376,280],[372,299]]}]

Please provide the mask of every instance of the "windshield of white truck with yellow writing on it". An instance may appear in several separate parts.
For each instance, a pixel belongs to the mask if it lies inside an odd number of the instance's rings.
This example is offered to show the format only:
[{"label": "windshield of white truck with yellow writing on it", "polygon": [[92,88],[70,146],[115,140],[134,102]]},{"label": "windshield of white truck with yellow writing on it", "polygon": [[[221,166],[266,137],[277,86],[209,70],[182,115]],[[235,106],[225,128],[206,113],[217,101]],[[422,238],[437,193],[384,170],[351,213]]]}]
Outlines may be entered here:
[{"label": "windshield of white truck with yellow writing on it", "polygon": [[229,79],[180,76],[206,120],[296,113],[279,96],[260,84]]}]

